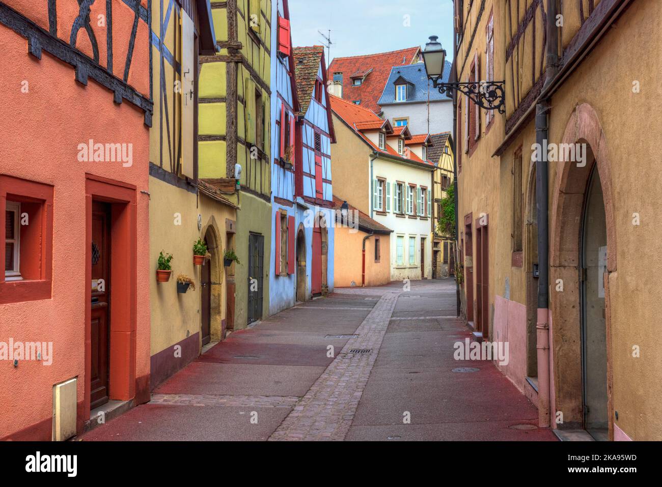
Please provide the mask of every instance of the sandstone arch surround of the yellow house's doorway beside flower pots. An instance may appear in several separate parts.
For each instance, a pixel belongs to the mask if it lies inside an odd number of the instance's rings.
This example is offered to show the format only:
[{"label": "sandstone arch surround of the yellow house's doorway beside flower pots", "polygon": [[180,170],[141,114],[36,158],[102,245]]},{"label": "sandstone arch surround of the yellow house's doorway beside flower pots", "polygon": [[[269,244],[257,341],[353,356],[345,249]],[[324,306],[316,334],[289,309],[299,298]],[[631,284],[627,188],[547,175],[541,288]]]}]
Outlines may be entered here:
[{"label": "sandstone arch surround of the yellow house's doorway beside flower pots", "polygon": [[[222,242],[218,236],[215,222],[210,222],[206,228],[201,232],[203,239],[207,242],[207,250],[211,253],[211,259],[205,262],[209,265],[207,277],[209,278],[210,287],[210,332],[211,342],[221,341],[225,337],[225,324],[222,319],[222,302],[223,302],[223,249]],[[203,289],[204,291],[204,289]],[[201,293],[202,294],[202,293]],[[202,316],[202,308],[201,308]]]}]

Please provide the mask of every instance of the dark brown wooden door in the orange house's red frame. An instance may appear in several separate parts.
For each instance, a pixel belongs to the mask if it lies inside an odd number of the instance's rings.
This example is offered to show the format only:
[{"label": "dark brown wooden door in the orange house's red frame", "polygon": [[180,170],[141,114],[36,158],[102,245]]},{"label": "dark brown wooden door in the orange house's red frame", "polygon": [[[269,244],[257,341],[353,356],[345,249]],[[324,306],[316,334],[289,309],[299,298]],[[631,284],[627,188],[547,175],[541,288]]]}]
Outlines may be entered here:
[{"label": "dark brown wooden door in the orange house's red frame", "polygon": [[109,399],[110,205],[92,205],[92,313],[90,408]]}]

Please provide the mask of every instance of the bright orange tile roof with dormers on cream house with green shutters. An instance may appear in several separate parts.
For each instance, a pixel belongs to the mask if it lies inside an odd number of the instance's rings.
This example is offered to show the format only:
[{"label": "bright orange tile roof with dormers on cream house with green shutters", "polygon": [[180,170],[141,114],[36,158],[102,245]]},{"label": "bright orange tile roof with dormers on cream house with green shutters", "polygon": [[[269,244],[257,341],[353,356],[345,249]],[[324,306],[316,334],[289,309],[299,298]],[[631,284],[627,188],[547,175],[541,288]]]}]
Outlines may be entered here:
[{"label": "bright orange tile roof with dormers on cream house with green shutters", "polygon": [[[365,144],[370,146],[373,151],[379,152],[380,154],[391,155],[403,161],[413,161],[425,165],[434,165],[430,163],[430,161],[424,161],[412,151],[408,151],[409,157],[406,157],[406,155],[398,154],[397,150],[392,148],[389,144],[386,144],[385,149],[380,149],[363,132],[365,130],[377,130],[379,126],[384,125],[385,122],[388,122],[388,120],[383,120],[382,118],[379,118],[375,112],[359,107],[358,105],[354,105],[354,103],[345,101],[342,98],[334,97],[333,95],[330,95],[329,98],[331,99],[331,109],[334,111],[334,113],[343,122],[345,122],[345,124],[351,130],[354,130],[355,134],[357,134],[357,136],[359,136],[363,142],[365,142]],[[387,127],[390,126],[391,124],[389,123]],[[406,126],[395,127],[395,129],[399,130],[400,133],[406,129],[406,134],[410,136],[409,130],[406,128]]]}]

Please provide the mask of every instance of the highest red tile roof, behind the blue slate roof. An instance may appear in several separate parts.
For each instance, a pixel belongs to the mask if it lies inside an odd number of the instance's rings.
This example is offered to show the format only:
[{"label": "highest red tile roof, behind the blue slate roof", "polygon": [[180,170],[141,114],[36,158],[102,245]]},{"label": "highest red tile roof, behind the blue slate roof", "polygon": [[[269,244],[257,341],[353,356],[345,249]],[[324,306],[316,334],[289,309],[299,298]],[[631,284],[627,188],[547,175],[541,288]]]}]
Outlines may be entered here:
[{"label": "highest red tile roof, behind the blue slate roof", "polygon": [[[343,99],[361,100],[361,106],[375,113],[381,112],[377,100],[384,91],[386,82],[391,74],[391,67],[401,64],[412,64],[414,58],[418,58],[419,47],[401,49],[391,52],[380,52],[366,56],[352,56],[350,58],[334,58],[328,67],[329,77],[334,73],[341,72],[342,97]],[[363,83],[359,86],[352,85],[352,76],[365,73],[372,69]]]}]

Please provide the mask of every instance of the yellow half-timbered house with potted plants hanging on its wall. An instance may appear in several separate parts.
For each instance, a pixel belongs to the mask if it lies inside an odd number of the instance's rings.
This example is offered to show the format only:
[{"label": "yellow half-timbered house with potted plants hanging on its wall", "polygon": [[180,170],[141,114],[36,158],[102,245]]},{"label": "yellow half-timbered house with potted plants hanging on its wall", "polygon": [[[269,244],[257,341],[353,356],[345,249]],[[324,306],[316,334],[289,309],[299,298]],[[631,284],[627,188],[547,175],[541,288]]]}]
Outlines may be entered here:
[{"label": "yellow half-timbered house with potted plants hanging on its wall", "polygon": [[[150,382],[154,389],[197,357],[202,347],[224,338],[230,306],[223,255],[227,235],[234,232],[237,205],[214,181],[199,177],[197,140],[201,126],[207,128],[211,105],[199,105],[198,60],[217,50],[211,4],[209,0],[153,1],[151,15]],[[198,239],[209,250],[203,265],[193,262],[193,242]],[[173,256],[166,283],[156,281],[162,251]],[[178,275],[199,285],[185,294],[177,292]]]}]

